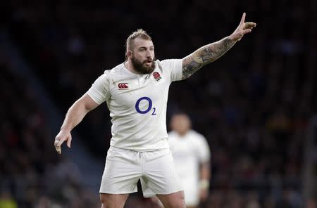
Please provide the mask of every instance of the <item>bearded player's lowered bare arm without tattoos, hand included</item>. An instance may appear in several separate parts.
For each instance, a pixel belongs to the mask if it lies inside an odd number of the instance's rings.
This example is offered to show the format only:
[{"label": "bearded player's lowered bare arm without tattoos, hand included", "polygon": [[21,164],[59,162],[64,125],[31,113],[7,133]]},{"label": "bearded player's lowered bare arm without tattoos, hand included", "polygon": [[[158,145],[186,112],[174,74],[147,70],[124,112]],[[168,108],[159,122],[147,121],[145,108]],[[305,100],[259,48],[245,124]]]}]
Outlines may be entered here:
[{"label": "bearded player's lowered bare arm without tattoos, hand included", "polygon": [[61,145],[64,141],[67,141],[67,146],[70,148],[72,141],[70,131],[82,121],[87,112],[97,108],[98,105],[99,104],[94,102],[86,93],[69,108],[61,126],[61,131],[59,131],[54,141],[54,146],[58,154],[61,154]]}]

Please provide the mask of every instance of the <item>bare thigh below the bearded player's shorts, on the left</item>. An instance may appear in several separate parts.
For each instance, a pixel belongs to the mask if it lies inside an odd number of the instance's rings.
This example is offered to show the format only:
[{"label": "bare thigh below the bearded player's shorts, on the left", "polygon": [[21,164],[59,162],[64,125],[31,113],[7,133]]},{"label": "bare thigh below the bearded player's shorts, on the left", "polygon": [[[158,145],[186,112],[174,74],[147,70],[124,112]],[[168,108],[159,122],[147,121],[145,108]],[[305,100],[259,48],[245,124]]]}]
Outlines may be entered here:
[{"label": "bare thigh below the bearded player's shorts, on the left", "polygon": [[123,208],[127,198],[128,194],[100,194],[102,208]]}]

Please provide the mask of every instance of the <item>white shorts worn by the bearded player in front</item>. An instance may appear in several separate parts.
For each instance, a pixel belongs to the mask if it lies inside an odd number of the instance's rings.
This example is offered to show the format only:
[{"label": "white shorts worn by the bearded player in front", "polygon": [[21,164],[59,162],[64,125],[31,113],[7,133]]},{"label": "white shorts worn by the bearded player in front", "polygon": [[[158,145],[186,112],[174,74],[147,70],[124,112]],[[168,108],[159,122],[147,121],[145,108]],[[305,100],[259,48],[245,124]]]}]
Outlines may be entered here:
[{"label": "white shorts worn by the bearded player in front", "polygon": [[182,190],[170,149],[137,152],[111,146],[99,193],[137,192],[139,179],[144,197]]}]

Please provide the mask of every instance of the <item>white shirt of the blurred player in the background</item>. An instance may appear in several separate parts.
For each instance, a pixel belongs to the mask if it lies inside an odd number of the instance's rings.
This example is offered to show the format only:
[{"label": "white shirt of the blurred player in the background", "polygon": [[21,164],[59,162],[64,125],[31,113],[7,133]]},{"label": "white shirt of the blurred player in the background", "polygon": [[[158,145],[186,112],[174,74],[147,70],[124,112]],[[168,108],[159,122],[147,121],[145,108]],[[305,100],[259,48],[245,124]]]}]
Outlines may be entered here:
[{"label": "white shirt of the blurred player in the background", "polygon": [[[181,181],[186,181],[189,188],[198,188],[199,164],[208,162],[211,157],[206,138],[194,130],[189,130],[184,136],[170,131],[168,142],[173,154],[175,170]],[[182,185],[186,190],[187,185]]]}]

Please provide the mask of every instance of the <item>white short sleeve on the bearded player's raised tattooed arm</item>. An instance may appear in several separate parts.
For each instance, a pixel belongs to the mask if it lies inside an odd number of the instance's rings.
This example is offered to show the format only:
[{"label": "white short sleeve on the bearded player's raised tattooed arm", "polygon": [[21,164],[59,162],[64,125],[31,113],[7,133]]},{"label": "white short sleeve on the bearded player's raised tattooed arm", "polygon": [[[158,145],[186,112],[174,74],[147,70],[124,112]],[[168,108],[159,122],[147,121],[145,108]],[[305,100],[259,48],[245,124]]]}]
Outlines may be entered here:
[{"label": "white short sleeve on the bearded player's raised tattooed arm", "polygon": [[182,59],[166,59],[161,61],[163,72],[168,72],[170,82],[182,79]]}]

